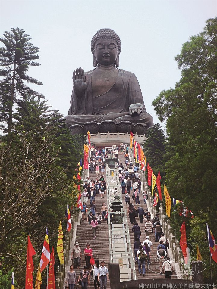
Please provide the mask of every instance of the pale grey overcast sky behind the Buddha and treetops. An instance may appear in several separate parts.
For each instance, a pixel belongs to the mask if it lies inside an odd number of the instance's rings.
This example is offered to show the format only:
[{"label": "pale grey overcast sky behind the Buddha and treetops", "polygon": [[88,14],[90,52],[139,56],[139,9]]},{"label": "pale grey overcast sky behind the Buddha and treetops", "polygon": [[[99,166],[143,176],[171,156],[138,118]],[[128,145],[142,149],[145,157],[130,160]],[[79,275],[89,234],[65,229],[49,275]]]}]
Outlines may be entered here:
[{"label": "pale grey overcast sky behind the Buddha and treetops", "polygon": [[174,56],[190,36],[203,30],[208,18],[216,16],[217,2],[0,0],[0,11],[0,37],[19,27],[40,48],[41,66],[30,67],[29,75],[43,86],[33,87],[63,115],[70,107],[73,70],[93,69],[92,36],[101,28],[115,30],[122,47],[119,68],[137,76],[146,110],[159,123],[152,101],[180,79]]}]

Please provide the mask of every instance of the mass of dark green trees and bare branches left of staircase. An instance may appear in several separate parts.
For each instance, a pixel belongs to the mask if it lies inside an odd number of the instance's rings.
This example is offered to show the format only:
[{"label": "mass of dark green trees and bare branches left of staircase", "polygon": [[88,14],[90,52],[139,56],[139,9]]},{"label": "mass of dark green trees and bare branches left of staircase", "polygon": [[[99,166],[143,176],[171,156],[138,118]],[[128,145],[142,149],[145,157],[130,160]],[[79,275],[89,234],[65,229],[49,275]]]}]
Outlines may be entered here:
[{"label": "mass of dark green trees and bare branches left of staircase", "polygon": [[[30,44],[28,47],[32,49]],[[25,71],[27,64],[26,61]],[[21,62],[16,65],[16,71],[20,66]],[[5,100],[10,99],[11,85],[10,79],[0,82],[4,132],[8,132],[10,123]],[[10,142],[7,134],[0,136],[0,289],[11,288],[12,270],[16,288],[24,288],[27,235],[36,251],[33,257],[35,282],[46,226],[50,247],[55,249],[55,267],[58,266],[58,225],[62,220],[65,235],[65,210],[67,204],[74,208],[77,200],[73,175],[77,175],[77,163],[86,142],[83,135],[70,135],[63,116],[58,110],[50,110],[36,93],[26,89],[21,98],[14,96],[13,101],[17,108],[12,113]],[[41,288],[45,286],[43,281]]]}]

